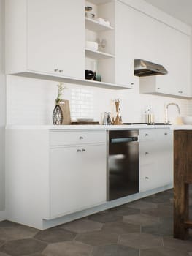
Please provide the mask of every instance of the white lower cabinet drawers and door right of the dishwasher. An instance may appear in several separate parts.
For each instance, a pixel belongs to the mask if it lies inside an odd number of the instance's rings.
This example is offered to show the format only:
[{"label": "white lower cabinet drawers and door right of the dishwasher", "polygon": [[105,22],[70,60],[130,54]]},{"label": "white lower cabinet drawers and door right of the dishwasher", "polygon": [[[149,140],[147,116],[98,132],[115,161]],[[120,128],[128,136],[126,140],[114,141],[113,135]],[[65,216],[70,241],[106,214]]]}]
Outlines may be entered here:
[{"label": "white lower cabinet drawers and door right of the dishwasher", "polygon": [[139,192],[172,184],[172,131],[148,129],[140,130],[139,135]]}]

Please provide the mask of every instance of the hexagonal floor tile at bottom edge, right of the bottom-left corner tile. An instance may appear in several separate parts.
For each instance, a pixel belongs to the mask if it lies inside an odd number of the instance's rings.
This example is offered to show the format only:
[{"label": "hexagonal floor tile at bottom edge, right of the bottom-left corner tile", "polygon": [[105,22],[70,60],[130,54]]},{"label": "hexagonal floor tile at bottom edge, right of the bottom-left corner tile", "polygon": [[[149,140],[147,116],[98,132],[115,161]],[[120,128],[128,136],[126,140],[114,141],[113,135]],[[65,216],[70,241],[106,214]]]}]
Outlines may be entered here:
[{"label": "hexagonal floor tile at bottom edge, right of the bottom-left corner tile", "polygon": [[45,256],[90,256],[92,246],[75,241],[49,244],[43,251]]}]

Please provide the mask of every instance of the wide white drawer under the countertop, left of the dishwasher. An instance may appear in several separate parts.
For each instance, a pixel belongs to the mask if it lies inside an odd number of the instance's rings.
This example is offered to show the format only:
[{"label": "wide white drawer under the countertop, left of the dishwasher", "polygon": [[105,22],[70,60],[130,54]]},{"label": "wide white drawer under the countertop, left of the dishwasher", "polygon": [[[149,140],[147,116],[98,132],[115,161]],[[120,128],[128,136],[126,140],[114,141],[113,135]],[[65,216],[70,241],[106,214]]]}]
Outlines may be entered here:
[{"label": "wide white drawer under the countertop, left of the dishwasher", "polygon": [[50,146],[105,143],[106,131],[54,131],[50,132]]}]

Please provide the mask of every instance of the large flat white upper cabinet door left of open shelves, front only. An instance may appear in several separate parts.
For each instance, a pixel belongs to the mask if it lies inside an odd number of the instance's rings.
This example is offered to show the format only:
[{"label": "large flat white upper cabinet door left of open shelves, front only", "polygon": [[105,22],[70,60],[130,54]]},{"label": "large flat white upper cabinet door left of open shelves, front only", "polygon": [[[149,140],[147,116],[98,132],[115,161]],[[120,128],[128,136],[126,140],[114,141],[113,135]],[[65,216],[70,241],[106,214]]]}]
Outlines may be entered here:
[{"label": "large flat white upper cabinet door left of open shelves, front only", "polygon": [[28,0],[27,17],[28,69],[84,78],[84,1]]}]

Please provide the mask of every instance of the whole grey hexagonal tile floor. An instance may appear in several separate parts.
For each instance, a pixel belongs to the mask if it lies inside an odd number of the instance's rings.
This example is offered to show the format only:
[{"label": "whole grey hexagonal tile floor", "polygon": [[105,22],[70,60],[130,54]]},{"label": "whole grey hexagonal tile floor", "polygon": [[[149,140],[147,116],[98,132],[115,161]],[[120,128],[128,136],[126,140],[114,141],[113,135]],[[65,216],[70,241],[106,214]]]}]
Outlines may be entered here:
[{"label": "whole grey hexagonal tile floor", "polygon": [[192,230],[172,237],[172,208],[170,189],[44,231],[0,222],[0,256],[192,256]]}]

